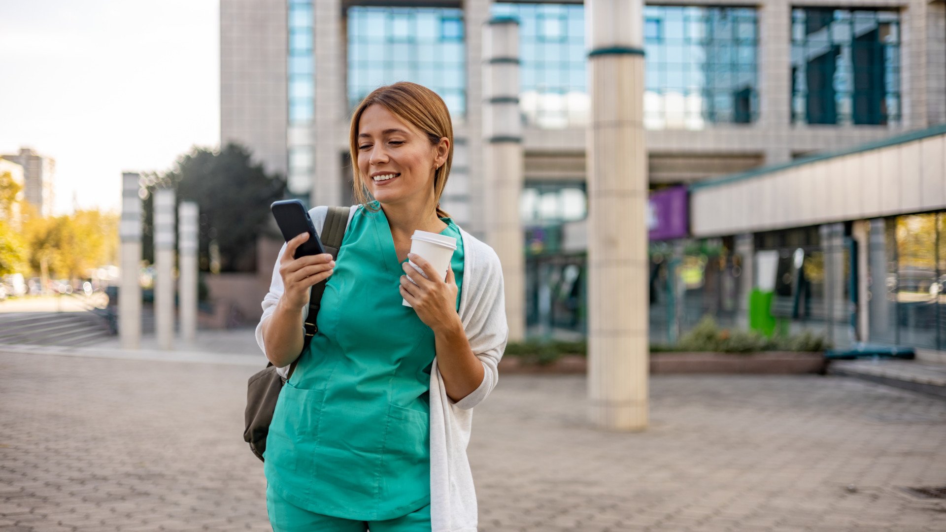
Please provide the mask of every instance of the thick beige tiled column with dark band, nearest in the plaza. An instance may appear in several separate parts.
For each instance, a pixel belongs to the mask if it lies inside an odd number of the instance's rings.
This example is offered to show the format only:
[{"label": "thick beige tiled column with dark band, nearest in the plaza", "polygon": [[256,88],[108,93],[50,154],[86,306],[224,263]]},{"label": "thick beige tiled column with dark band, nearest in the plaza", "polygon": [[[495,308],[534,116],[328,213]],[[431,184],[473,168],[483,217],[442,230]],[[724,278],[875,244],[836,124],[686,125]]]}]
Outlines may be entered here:
[{"label": "thick beige tiled column with dark band, nearest in the plaza", "polygon": [[589,417],[648,424],[647,154],[643,2],[587,0]]}]

